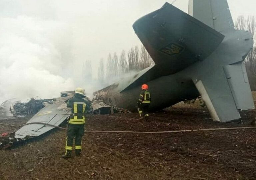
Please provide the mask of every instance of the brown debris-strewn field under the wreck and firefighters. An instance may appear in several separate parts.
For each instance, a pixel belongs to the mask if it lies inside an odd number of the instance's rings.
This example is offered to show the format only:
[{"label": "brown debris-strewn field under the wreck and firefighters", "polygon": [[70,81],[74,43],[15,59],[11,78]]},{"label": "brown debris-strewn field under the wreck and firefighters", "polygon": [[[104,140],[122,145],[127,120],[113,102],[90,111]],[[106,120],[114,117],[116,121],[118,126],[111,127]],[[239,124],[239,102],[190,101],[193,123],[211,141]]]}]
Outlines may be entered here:
[{"label": "brown debris-strewn field under the wreck and firefighters", "polygon": [[[256,94],[254,93],[256,97]],[[256,99],[256,98],[255,98]],[[255,110],[241,112],[243,125],[213,122],[206,108],[180,103],[150,114],[90,115],[86,130],[171,131],[251,126]],[[23,124],[29,118],[3,119]],[[0,133],[17,130],[0,126]],[[0,179],[256,179],[256,129],[174,134],[86,133],[80,157],[62,159],[66,133],[55,129],[0,150]]]}]

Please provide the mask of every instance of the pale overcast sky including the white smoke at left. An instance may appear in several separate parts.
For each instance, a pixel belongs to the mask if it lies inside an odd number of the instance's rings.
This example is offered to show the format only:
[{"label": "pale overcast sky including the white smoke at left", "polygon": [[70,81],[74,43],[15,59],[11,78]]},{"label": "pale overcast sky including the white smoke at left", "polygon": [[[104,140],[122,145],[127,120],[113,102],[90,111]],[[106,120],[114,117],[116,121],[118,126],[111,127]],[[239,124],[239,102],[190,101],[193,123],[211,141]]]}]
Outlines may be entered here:
[{"label": "pale overcast sky including the white smoke at left", "polygon": [[[97,62],[108,53],[140,46],[132,24],[165,2],[0,0],[0,102],[15,93],[50,98],[86,86],[82,62],[93,61],[96,75]],[[239,15],[256,15],[255,0],[228,3],[234,21]],[[173,5],[188,11],[188,0]],[[28,86],[22,87],[24,82]]]}]

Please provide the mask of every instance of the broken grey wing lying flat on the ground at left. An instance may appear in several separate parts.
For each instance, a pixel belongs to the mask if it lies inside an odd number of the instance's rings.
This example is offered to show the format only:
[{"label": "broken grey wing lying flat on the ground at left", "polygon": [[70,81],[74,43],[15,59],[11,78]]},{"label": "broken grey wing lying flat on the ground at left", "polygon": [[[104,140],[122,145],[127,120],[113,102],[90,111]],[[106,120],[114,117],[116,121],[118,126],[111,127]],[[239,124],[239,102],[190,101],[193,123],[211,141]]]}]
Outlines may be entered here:
[{"label": "broken grey wing lying flat on the ground at left", "polygon": [[[57,98],[52,104],[41,109],[27,123],[42,122],[50,125],[58,126],[71,114],[69,108],[66,107],[66,100],[71,96]],[[15,138],[26,140],[31,137],[40,136],[41,134],[53,129],[53,126],[43,124],[29,124],[20,128],[15,132]]]}]

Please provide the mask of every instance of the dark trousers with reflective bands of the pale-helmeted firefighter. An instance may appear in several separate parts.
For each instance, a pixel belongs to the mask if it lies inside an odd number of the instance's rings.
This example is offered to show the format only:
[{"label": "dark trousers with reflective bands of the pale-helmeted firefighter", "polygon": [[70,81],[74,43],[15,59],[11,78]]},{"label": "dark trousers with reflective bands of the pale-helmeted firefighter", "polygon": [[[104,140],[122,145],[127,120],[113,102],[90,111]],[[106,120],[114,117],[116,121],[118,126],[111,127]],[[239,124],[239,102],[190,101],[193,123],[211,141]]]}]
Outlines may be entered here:
[{"label": "dark trousers with reflective bands of the pale-helmeted firefighter", "polygon": [[80,150],[82,137],[84,135],[84,124],[68,124],[66,137],[66,154],[73,149],[73,139],[75,137],[75,149]]}]

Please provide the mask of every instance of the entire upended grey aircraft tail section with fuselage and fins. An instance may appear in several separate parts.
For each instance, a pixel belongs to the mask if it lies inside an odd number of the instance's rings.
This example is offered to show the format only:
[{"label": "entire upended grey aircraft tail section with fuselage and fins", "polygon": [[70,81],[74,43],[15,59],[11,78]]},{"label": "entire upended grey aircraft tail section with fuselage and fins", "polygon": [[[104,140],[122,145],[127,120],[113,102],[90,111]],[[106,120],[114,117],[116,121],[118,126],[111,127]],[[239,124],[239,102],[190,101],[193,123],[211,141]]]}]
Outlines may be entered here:
[{"label": "entire upended grey aircraft tail section with fuselage and fins", "polygon": [[226,0],[190,0],[189,15],[169,3],[138,19],[133,29],[155,65],[95,92],[117,107],[135,110],[147,83],[151,109],[202,96],[213,120],[239,119],[254,109],[244,59],[252,49],[236,30]]}]

